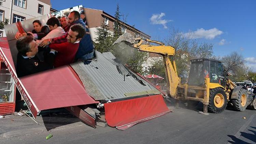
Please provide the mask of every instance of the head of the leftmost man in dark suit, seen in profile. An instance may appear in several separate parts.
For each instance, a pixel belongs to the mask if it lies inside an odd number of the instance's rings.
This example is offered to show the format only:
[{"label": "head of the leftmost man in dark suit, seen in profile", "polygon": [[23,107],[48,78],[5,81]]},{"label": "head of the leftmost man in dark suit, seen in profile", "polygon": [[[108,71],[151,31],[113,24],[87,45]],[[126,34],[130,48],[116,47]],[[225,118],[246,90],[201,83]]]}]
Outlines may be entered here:
[{"label": "head of the leftmost man in dark suit, seen in profile", "polygon": [[16,42],[18,52],[27,57],[32,57],[38,53],[38,44],[32,36],[21,37]]}]

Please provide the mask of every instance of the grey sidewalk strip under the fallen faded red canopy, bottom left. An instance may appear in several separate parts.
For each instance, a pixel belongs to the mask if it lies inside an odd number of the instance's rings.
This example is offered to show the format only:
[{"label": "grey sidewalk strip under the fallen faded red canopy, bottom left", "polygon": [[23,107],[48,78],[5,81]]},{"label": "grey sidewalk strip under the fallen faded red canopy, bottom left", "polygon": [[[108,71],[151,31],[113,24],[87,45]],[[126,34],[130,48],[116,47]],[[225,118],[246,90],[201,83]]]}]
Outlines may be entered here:
[{"label": "grey sidewalk strip under the fallen faded red canopy, bottom left", "polygon": [[58,130],[75,129],[76,127],[88,127],[72,114],[38,116],[37,123],[30,117],[18,116],[15,114],[5,115],[0,119],[0,139],[20,137],[29,134],[50,133]]}]

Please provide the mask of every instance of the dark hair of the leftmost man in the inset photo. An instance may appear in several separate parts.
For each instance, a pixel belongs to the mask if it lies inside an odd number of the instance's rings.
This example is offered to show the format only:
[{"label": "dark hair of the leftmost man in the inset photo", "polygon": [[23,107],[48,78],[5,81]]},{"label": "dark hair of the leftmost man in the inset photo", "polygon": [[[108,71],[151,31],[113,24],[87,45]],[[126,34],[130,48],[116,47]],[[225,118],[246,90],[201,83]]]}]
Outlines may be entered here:
[{"label": "dark hair of the leftmost man in the inset photo", "polygon": [[33,40],[34,38],[29,35],[19,38],[16,42],[16,48],[18,52],[23,56],[27,56],[26,53],[31,51],[29,43],[31,43]]}]

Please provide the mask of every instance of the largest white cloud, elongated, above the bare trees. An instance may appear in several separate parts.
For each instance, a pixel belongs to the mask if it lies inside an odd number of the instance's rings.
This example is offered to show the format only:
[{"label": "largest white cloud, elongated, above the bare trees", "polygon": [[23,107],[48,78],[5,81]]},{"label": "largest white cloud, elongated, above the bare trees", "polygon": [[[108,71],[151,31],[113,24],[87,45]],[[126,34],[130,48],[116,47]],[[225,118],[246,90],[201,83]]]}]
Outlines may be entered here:
[{"label": "largest white cloud, elongated, above the bare trees", "polygon": [[221,35],[222,33],[223,31],[218,30],[217,28],[212,28],[209,30],[200,28],[200,29],[197,29],[196,31],[190,31],[190,32],[184,33],[184,36],[190,39],[204,38],[204,39],[212,40],[218,35]]}]

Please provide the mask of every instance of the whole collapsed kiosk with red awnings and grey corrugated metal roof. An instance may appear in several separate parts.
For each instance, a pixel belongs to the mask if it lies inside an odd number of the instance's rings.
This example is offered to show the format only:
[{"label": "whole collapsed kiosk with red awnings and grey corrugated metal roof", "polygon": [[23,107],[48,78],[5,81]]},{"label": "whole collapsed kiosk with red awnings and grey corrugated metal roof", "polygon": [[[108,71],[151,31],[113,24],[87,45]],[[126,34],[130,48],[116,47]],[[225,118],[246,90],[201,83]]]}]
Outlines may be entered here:
[{"label": "whole collapsed kiosk with red awnings and grey corrugated metal roof", "polygon": [[7,39],[1,41],[0,56],[34,119],[42,110],[65,107],[92,127],[105,114],[108,125],[124,130],[170,112],[161,91],[117,63],[112,53],[96,52],[87,65],[77,62],[17,78]]}]

